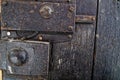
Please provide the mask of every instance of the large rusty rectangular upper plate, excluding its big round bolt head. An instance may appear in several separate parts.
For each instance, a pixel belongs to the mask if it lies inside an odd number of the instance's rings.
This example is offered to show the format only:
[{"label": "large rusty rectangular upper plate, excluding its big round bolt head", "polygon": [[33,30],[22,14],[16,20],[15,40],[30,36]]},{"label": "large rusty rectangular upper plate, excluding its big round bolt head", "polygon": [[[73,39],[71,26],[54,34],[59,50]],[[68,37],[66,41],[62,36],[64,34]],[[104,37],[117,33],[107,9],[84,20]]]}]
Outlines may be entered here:
[{"label": "large rusty rectangular upper plate, excluding its big round bolt head", "polygon": [[[43,7],[53,11],[49,18],[40,14]],[[51,11],[50,10],[50,11]],[[42,12],[44,13],[44,12]],[[51,2],[8,1],[2,5],[2,30],[73,32],[75,5]],[[6,26],[4,26],[6,24]],[[69,29],[72,26],[72,30]]]}]

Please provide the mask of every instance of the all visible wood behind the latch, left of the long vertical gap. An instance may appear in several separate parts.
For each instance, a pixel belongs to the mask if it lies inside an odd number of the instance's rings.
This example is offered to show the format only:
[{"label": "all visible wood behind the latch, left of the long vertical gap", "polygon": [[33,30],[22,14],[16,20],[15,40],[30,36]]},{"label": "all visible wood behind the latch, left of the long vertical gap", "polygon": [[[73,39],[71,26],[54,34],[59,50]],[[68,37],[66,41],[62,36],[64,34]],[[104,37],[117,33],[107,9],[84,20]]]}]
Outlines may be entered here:
[{"label": "all visible wood behind the latch, left of the long vertical gap", "polygon": [[[97,0],[77,0],[77,15],[96,16]],[[94,24],[76,24],[73,40],[52,43],[50,80],[91,80]],[[4,80],[41,80],[38,76],[6,75]]]}]

